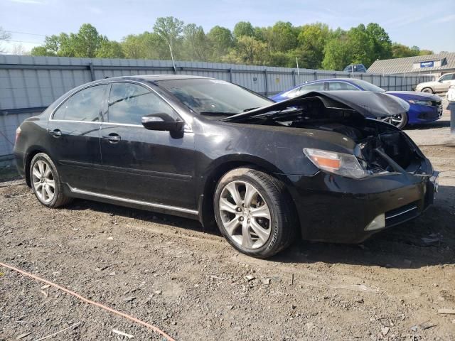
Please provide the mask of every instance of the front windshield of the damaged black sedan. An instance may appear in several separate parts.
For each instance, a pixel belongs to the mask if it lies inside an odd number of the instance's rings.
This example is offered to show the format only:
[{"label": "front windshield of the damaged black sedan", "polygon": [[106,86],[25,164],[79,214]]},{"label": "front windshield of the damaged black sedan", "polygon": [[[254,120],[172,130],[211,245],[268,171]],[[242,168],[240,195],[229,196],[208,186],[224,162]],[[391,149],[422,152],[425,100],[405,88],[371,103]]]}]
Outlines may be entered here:
[{"label": "front windshield of the damaged black sedan", "polygon": [[270,99],[223,80],[193,78],[159,80],[156,83],[199,114],[240,114],[273,103]]}]

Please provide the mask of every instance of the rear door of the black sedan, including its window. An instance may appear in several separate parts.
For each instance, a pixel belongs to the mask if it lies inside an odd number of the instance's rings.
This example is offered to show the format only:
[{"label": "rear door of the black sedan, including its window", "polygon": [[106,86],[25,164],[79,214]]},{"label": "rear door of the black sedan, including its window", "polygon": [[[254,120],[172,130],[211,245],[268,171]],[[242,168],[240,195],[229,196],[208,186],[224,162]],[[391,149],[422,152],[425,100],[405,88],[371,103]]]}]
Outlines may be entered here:
[{"label": "rear door of the black sedan, including its window", "polygon": [[108,85],[82,89],[65,100],[48,122],[48,151],[64,183],[82,190],[100,190],[101,109]]}]

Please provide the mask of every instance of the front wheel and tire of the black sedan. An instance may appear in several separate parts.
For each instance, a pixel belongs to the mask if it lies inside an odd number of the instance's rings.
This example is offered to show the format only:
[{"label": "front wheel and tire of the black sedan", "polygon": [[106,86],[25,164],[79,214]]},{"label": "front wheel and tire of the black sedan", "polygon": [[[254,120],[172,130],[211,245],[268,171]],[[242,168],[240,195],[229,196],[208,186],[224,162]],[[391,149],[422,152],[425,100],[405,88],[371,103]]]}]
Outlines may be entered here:
[{"label": "front wheel and tire of the black sedan", "polygon": [[215,220],[238,251],[257,258],[277,254],[296,235],[291,197],[281,181],[251,168],[236,168],[218,182]]}]

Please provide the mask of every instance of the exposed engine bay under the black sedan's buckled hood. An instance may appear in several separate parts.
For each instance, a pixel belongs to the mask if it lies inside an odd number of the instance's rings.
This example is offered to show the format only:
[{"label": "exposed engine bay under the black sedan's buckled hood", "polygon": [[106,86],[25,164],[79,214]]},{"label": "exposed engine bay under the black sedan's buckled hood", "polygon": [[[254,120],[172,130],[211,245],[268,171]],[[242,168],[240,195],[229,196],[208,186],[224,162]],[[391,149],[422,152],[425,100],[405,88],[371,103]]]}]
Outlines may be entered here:
[{"label": "exposed engine bay under the black sedan's buckled hood", "polygon": [[355,156],[371,173],[419,173],[424,156],[395,126],[365,118],[350,108],[326,107],[321,101],[260,114],[248,123],[317,129],[343,134],[355,141]]}]

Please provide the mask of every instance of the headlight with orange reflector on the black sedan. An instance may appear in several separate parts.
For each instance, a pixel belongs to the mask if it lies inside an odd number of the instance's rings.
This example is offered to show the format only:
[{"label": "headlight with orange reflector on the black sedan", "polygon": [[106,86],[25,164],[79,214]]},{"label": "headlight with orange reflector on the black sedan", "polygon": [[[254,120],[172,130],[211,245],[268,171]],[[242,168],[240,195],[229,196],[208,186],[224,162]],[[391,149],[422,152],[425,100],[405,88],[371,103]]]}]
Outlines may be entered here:
[{"label": "headlight with orange reflector on the black sedan", "polygon": [[370,172],[363,169],[353,155],[313,148],[304,148],[304,153],[314,166],[323,171],[354,179],[370,175]]}]

